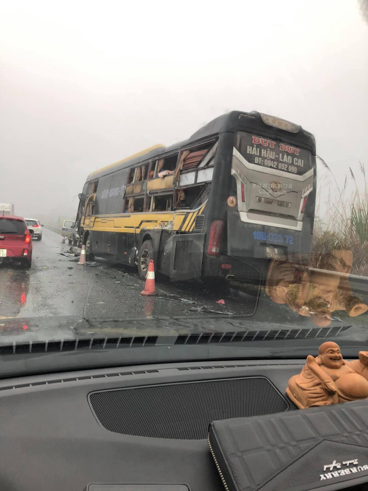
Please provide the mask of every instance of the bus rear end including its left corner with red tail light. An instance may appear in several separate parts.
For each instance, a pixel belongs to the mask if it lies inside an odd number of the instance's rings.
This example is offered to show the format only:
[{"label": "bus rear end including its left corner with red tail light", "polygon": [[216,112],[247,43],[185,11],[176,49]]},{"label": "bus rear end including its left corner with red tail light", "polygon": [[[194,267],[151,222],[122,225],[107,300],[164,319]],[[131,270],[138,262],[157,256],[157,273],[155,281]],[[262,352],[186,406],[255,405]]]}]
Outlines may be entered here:
[{"label": "bus rear end including its left corner with red tail light", "polygon": [[272,259],[308,264],[315,138],[300,126],[258,112],[235,116],[231,133],[222,139],[218,196],[223,198],[215,200],[216,219],[209,224],[204,275],[217,271],[220,277],[242,280],[250,265],[267,271]]}]

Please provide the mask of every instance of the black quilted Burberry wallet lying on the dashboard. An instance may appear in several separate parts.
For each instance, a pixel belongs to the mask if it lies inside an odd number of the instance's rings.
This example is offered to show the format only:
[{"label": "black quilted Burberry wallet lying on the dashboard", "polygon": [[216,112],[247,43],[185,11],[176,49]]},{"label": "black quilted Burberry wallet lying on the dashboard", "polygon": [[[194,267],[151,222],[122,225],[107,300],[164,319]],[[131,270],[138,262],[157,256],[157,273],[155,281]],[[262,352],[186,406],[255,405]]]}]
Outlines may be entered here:
[{"label": "black quilted Burberry wallet lying on the dashboard", "polygon": [[332,491],[368,483],[368,401],[210,424],[226,491]]}]

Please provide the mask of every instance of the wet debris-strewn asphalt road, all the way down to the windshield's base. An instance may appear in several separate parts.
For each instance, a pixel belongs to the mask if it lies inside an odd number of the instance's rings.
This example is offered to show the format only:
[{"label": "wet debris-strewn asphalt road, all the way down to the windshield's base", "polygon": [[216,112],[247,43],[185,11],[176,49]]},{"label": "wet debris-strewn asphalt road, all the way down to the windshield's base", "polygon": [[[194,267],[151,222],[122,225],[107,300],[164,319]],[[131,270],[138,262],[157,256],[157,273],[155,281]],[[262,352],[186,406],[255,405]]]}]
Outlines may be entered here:
[{"label": "wet debris-strewn asphalt road, all the way down to the windshield's base", "polygon": [[[257,288],[225,289],[201,281],[173,283],[157,275],[158,295],[144,297],[140,295],[144,281],[133,268],[104,260],[79,266],[63,255],[70,248],[68,243],[61,244],[60,235],[48,229],[32,245],[30,270],[0,265],[0,342],[10,334],[31,331],[49,339],[73,337],[78,331],[89,334],[96,332],[90,324],[96,326],[99,320],[111,325],[124,321],[126,329],[139,320],[149,328],[150,319],[158,319],[155,326],[160,320],[167,325],[176,319],[177,325],[188,329],[216,325],[221,330],[221,319],[226,319],[227,330],[231,324],[238,330],[252,323],[263,328],[314,327],[309,318],[273,303],[262,288],[258,292]],[[213,319],[213,324],[207,319]],[[343,322],[336,319],[334,324]],[[106,329],[108,323],[102,330]]]}]

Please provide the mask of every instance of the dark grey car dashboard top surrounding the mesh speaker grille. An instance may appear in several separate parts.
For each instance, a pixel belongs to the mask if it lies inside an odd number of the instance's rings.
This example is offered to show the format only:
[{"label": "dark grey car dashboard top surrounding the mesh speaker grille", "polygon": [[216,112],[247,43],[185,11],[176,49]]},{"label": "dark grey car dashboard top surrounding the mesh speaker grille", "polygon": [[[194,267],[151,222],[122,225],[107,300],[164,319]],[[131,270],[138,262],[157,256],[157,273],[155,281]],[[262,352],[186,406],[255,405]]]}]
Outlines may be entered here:
[{"label": "dark grey car dashboard top surrounding the mesh speaker grille", "polygon": [[223,491],[209,423],[297,410],[285,388],[303,364],[161,363],[2,380],[0,488]]}]

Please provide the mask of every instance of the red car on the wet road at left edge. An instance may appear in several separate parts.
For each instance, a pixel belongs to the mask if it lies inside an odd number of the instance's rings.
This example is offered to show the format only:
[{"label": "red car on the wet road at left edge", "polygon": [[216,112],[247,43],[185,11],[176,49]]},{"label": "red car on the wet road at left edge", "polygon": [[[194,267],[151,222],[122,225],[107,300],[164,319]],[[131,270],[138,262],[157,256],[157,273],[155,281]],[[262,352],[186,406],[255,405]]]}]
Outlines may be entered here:
[{"label": "red car on the wet road at left edge", "polygon": [[31,238],[24,218],[0,216],[0,260],[20,262],[29,269],[32,263]]}]

